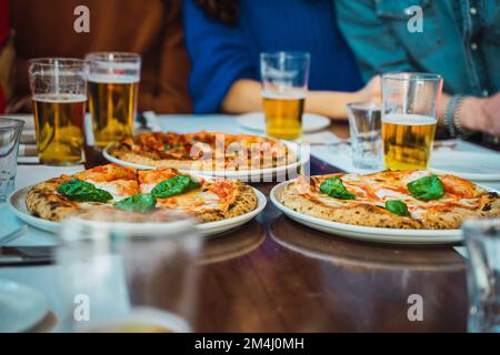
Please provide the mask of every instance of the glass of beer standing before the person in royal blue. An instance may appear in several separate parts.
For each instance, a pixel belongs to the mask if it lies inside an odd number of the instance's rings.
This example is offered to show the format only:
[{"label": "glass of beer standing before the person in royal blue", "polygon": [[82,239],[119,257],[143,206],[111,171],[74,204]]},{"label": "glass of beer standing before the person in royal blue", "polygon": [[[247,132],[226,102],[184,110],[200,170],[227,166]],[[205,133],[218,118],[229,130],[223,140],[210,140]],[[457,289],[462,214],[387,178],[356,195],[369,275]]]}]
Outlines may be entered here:
[{"label": "glass of beer standing before the person in royal blue", "polygon": [[302,134],[311,57],[306,52],[260,54],[263,111],[269,136],[296,141]]}]

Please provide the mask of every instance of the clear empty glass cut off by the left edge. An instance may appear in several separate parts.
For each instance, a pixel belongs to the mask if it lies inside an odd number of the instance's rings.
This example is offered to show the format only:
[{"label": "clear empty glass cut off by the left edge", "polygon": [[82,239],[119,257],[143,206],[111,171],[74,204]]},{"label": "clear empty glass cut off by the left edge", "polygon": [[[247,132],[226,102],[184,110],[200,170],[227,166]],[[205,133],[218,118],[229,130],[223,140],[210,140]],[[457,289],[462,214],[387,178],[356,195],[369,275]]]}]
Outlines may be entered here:
[{"label": "clear empty glass cut off by the left edge", "polygon": [[0,203],[14,190],[18,149],[24,122],[0,118]]}]

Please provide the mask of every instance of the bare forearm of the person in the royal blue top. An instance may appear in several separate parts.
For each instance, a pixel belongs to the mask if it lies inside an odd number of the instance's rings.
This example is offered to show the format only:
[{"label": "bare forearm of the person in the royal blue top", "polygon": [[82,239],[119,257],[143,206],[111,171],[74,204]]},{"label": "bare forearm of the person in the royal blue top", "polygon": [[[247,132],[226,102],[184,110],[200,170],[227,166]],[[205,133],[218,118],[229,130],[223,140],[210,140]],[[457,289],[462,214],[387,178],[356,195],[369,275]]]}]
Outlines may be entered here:
[{"label": "bare forearm of the person in the royal blue top", "polygon": [[[377,77],[358,92],[310,91],[306,98],[306,112],[332,119],[346,119],[346,104],[357,101],[380,100],[380,79]],[[221,111],[243,113],[262,110],[261,85],[256,80],[237,80],[222,101]]]}]

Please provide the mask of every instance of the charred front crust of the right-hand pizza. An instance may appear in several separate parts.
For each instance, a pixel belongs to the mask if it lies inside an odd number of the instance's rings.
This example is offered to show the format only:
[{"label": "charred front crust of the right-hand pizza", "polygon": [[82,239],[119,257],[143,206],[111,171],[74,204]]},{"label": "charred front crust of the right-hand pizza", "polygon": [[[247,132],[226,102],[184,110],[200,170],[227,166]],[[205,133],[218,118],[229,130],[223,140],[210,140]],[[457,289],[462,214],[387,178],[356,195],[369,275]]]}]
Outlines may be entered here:
[{"label": "charred front crust of the right-hand pizza", "polygon": [[[383,175],[386,172],[377,173]],[[393,172],[387,172],[393,174]],[[346,174],[330,174],[321,178],[326,179]],[[371,175],[373,176],[373,175]],[[314,184],[318,184],[314,178],[311,179],[311,190],[304,191],[303,186],[297,181],[289,183],[281,193],[280,202],[287,207],[311,215],[314,217],[340,222],[353,225],[389,227],[389,229],[416,229],[416,230],[448,230],[459,229],[462,222],[468,217],[498,217],[500,216],[500,197],[496,192],[488,192],[480,186],[474,186],[477,207],[466,209],[459,205],[430,205],[419,219],[411,216],[399,216],[387,211],[382,205],[364,202],[339,201],[336,204],[333,197],[332,204],[322,203],[314,199]]]}]

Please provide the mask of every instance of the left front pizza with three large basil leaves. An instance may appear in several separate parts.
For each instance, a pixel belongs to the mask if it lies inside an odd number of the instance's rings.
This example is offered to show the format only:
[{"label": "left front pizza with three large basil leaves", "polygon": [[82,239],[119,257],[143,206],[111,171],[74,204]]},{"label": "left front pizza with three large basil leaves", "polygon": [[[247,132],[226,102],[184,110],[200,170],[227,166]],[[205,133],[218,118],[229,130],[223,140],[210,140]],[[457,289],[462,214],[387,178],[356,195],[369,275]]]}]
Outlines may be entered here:
[{"label": "left front pizza with three large basil leaves", "polygon": [[108,164],[33,185],[26,205],[31,214],[56,222],[92,211],[102,217],[116,211],[140,220],[152,212],[181,210],[203,223],[253,211],[257,195],[240,181],[191,176],[171,168],[136,170]]}]

